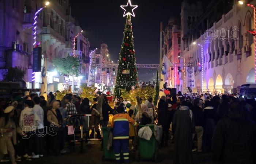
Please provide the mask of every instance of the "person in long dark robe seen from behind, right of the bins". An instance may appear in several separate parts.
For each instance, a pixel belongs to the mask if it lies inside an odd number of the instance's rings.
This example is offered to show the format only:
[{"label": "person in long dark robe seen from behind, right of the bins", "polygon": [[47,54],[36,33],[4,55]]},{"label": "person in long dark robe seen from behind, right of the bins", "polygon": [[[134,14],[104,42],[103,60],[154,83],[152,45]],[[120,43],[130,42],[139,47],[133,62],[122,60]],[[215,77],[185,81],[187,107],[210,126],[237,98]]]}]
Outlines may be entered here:
[{"label": "person in long dark robe seen from behind, right of the bins", "polygon": [[192,133],[195,131],[192,110],[182,101],[174,113],[174,164],[192,164]]}]

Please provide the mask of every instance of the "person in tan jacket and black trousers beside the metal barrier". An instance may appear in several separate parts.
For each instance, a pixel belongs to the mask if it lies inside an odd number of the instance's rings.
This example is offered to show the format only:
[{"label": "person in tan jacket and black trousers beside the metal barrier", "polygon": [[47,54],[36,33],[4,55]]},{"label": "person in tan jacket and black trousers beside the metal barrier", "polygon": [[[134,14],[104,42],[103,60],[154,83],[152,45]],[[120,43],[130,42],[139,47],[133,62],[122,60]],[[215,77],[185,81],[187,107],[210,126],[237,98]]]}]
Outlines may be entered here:
[{"label": "person in tan jacket and black trousers beside the metal barrier", "polygon": [[47,112],[48,122],[51,125],[53,124],[56,125],[56,126],[51,126],[51,127],[54,127],[54,131],[56,130],[55,132],[57,132],[57,134],[53,135],[51,139],[53,151],[56,156],[59,156],[60,153],[65,153],[65,150],[64,150],[65,143],[63,142],[61,137],[63,137],[63,133],[64,133],[64,128],[62,124],[63,124],[63,121],[67,120],[67,118],[64,118],[64,119],[62,118],[62,114],[60,113],[59,107],[60,107],[60,102],[54,101],[52,104],[52,110],[48,110]]}]

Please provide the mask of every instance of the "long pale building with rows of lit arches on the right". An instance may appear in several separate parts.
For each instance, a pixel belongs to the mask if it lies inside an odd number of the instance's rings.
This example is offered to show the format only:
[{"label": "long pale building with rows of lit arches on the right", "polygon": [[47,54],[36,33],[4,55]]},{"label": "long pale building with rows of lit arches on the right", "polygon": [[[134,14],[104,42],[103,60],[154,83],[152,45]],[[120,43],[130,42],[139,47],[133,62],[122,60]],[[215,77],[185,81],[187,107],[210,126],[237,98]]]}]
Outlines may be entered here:
[{"label": "long pale building with rows of lit arches on the right", "polygon": [[[256,4],[256,0],[244,2]],[[209,5],[189,4],[181,7],[181,56],[193,67],[179,90],[188,92],[231,93],[254,81],[253,10],[238,1],[217,0]],[[192,81],[189,78],[192,77]]]}]

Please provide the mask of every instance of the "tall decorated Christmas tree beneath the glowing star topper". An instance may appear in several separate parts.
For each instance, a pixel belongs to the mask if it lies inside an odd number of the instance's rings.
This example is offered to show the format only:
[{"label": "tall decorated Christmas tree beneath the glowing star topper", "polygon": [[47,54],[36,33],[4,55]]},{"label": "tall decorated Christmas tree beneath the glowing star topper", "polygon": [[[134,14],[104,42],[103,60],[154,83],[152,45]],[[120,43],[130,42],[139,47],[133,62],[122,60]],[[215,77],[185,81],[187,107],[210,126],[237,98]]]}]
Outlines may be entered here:
[{"label": "tall decorated Christmas tree beneath the glowing star topper", "polygon": [[133,86],[138,86],[138,77],[135,61],[131,14],[128,14],[119,56],[114,96],[120,97],[121,89],[130,91]]}]

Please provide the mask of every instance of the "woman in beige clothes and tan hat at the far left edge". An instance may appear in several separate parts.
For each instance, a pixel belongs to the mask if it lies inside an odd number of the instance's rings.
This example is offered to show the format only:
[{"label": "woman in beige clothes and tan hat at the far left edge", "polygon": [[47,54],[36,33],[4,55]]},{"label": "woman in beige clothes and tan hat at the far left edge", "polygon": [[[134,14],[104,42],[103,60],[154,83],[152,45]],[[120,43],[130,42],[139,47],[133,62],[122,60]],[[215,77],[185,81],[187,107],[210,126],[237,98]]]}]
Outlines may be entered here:
[{"label": "woman in beige clothes and tan hat at the far left edge", "polygon": [[[12,164],[16,164],[14,150],[14,145],[16,145],[16,130],[18,129],[16,129],[16,124],[14,121],[14,107],[8,106],[4,110],[4,117],[0,118],[0,135],[5,140]],[[3,158],[3,156],[4,155],[0,153],[0,160]]]}]

